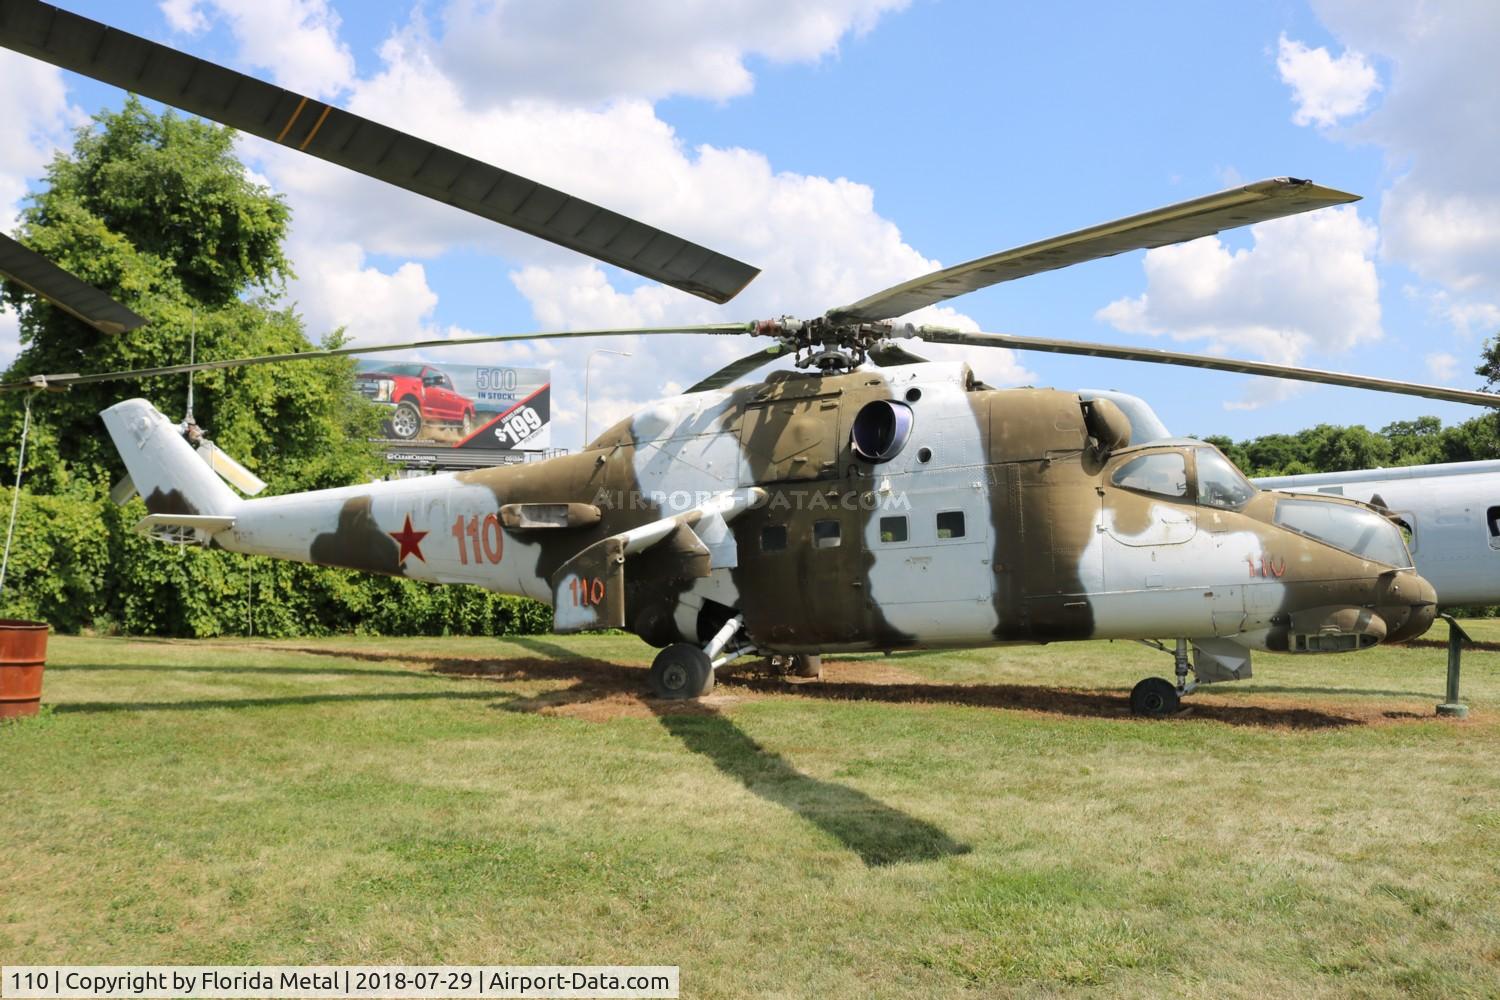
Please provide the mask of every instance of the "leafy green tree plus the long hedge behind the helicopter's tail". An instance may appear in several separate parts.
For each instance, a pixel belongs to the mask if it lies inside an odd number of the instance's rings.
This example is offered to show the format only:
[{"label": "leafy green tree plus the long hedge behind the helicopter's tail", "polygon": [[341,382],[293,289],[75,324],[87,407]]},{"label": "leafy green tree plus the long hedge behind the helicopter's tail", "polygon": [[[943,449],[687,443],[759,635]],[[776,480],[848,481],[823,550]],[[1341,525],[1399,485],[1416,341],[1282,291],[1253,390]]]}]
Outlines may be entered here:
[{"label": "leafy green tree plus the long hedge behind the helicopter's tail", "polygon": [[[22,351],[8,373],[96,372],[198,358],[306,351],[302,319],[282,303],[285,202],[254,183],[228,129],[130,99],[80,129],[22,213],[20,238],[105,289],[148,324],[111,337],[16,288]],[[338,343],[333,331],[324,343]],[[345,486],[381,472],[368,439],[375,408],[350,391],[352,361],[206,372],[198,421],[270,492]],[[99,411],[126,394],[176,417],[183,376],[81,385],[33,406],[27,481],[0,613],[62,630],[270,636],[332,631],[504,634],[544,631],[550,612],[478,588],[430,588],[324,567],[170,547],[136,535],[141,501],[117,508],[123,472]],[[0,399],[6,469],[15,468],[22,400]],[[39,495],[40,493],[40,495]],[[0,501],[9,493],[0,489]]]}]

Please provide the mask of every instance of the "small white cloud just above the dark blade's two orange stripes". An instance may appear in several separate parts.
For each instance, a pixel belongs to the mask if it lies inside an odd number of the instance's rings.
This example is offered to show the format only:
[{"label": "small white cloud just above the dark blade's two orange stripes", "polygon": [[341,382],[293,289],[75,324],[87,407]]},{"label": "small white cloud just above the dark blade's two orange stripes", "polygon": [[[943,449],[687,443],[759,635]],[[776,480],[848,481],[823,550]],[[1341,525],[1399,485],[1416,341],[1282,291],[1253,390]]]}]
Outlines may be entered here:
[{"label": "small white cloud just above the dark blade's two orange stripes", "polygon": [[330,97],[354,79],[354,57],[339,40],[339,15],[327,0],[162,0],[166,24],[186,34],[228,22],[237,61],[270,70],[284,87]]}]

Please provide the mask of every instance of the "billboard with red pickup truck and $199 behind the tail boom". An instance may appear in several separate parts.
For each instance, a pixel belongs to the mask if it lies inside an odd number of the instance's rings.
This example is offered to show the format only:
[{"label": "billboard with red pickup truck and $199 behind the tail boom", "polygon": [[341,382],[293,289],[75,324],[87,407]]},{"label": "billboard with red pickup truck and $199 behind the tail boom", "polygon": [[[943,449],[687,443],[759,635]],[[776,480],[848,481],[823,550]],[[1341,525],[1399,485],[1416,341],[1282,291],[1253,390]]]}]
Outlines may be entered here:
[{"label": "billboard with red pickup truck and $199 behind the tail boom", "polygon": [[548,369],[360,360],[354,387],[386,409],[388,441],[474,451],[552,444]]}]

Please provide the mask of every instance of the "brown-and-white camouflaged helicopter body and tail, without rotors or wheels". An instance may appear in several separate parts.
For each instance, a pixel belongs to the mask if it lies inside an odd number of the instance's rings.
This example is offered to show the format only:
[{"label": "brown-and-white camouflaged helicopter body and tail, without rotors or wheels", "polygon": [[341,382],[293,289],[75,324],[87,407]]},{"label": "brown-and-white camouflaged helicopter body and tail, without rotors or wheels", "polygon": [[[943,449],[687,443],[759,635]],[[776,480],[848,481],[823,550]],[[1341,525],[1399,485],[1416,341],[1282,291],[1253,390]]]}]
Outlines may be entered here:
[{"label": "brown-and-white camouflaged helicopter body and tail, without rotors or wheels", "polygon": [[[873,400],[912,414],[882,463],[850,445]],[[1286,495],[1222,508],[1191,481],[1178,499],[1114,486],[1140,454],[1179,453],[1191,477],[1212,448],[1112,454],[1088,406],[990,390],[966,364],[778,373],[648,406],[578,454],[262,499],[231,493],[146,400],[104,420],[159,522],[234,552],[532,597],[558,631],[704,643],[741,615],[764,654],[1104,637],[1308,651],[1431,624],[1410,559],[1274,525]]]}]

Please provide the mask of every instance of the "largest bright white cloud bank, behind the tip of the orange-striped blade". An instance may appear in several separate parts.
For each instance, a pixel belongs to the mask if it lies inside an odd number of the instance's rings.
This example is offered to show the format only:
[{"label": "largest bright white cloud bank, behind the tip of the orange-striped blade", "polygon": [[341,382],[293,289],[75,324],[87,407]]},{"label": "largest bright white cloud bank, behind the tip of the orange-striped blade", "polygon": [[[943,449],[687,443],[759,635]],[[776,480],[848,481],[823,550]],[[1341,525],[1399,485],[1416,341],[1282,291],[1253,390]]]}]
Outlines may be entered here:
[{"label": "largest bright white cloud bank, behind the tip of the orange-striped blade", "polygon": [[[224,7],[225,0],[213,1],[218,4],[214,9]],[[640,63],[638,70],[603,72],[600,79],[612,81],[609,93],[614,97],[600,103],[594,97],[604,91],[598,90],[597,81],[584,79],[578,84],[580,90],[570,91],[573,82],[558,82],[570,73],[558,73],[555,64],[549,64],[542,76],[552,81],[548,87],[561,90],[546,99],[536,96],[536,85],[522,85],[519,76],[507,75],[486,76],[488,88],[478,93],[476,79],[459,78],[462,67],[454,70],[456,57],[448,48],[471,42],[453,40],[454,33],[480,33],[478,22],[465,18],[519,16],[524,27],[519,37],[536,40],[542,33],[554,31],[548,25],[560,15],[550,6],[518,13],[504,3],[459,3],[438,18],[447,28],[442,39],[429,37],[422,21],[414,21],[382,45],[378,72],[350,81],[340,103],[356,114],[502,165],[760,265],[764,274],[726,307],[621,276],[549,243],[351,175],[292,150],[243,139],[242,153],[256,162],[292,205],[292,255],[300,274],[292,291],[315,333],[348,324],[350,334],[366,343],[464,336],[466,331],[435,319],[440,312],[436,295],[426,282],[423,265],[411,261],[382,270],[368,259],[369,253],[435,259],[460,247],[502,258],[496,261],[496,279],[508,273],[540,328],[750,321],[783,313],[814,316],[831,306],[934,270],[939,264],[909,246],[900,231],[876,213],[874,192],[868,186],[848,178],[777,171],[753,150],[688,147],[657,115],[650,97],[666,91],[732,93],[712,91],[720,82],[710,81],[710,85],[678,78],[681,67],[670,66],[669,52],[708,52],[729,39],[735,58],[752,54],[783,60],[816,58],[832,51],[840,37],[862,30],[882,9],[892,6],[898,4],[888,0],[826,0],[788,4],[784,9],[760,4],[754,10],[734,3],[591,7],[592,16],[603,19],[578,37],[570,36],[568,42],[588,49],[574,66],[579,73],[586,76],[600,60],[624,58],[620,55],[620,37],[626,33],[644,39],[644,51],[654,52],[651,64]],[[558,9],[570,7],[558,4]],[[608,31],[600,28],[622,18],[626,10],[626,19],[632,22],[628,31],[621,25]],[[574,16],[582,18],[576,12]],[[746,27],[752,22],[753,30]],[[244,25],[231,19],[230,27],[238,34]],[[693,39],[702,40],[702,45]],[[678,46],[678,42],[682,45]],[[568,103],[562,97],[584,103]],[[934,312],[933,318],[948,325],[972,325],[952,310]],[[495,363],[504,358],[513,364],[554,366],[558,372],[554,439],[572,445],[576,439],[570,435],[580,433],[576,409],[582,408],[584,364],[594,346],[634,355],[632,361],[612,358],[608,366],[608,355],[596,360],[591,408],[597,430],[608,417],[660,397],[674,387],[692,385],[730,360],[764,346],[764,342],[748,337],[615,337],[453,348],[441,357],[453,363]],[[952,354],[948,348],[916,349],[932,357]],[[1010,351],[981,354],[972,361],[981,378],[992,384],[1035,378]],[[609,375],[603,376],[603,372]]]}]

